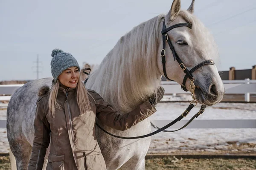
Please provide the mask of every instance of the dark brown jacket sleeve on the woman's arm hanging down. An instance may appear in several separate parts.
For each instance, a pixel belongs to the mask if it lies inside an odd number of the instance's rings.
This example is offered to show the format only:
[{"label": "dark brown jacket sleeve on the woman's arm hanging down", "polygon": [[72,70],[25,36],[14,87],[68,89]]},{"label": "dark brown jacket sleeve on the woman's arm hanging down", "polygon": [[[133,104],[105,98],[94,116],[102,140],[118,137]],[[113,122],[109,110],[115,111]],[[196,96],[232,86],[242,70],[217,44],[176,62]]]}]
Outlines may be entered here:
[{"label": "dark brown jacket sleeve on the woman's arm hanging down", "polygon": [[37,102],[34,129],[35,138],[33,141],[28,170],[42,170],[46,149],[50,143],[50,125],[45,116],[42,100]]}]

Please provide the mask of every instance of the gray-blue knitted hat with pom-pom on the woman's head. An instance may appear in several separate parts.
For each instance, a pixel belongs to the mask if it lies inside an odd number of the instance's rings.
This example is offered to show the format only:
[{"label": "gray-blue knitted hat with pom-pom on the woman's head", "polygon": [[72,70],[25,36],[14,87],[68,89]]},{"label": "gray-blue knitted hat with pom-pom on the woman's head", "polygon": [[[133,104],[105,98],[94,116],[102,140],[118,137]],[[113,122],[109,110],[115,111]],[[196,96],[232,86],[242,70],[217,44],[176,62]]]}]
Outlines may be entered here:
[{"label": "gray-blue knitted hat with pom-pom on the woman's head", "polygon": [[70,53],[66,53],[58,48],[53,49],[51,68],[54,81],[57,81],[58,76],[62,73],[62,71],[70,67],[77,67],[80,71],[79,64],[75,57],[73,57]]}]

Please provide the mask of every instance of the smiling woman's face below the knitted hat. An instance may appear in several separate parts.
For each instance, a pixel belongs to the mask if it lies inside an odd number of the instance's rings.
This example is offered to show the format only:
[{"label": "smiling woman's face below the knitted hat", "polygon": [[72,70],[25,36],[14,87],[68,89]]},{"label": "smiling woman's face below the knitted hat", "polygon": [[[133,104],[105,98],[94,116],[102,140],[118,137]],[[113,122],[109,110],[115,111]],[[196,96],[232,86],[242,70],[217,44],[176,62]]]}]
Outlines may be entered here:
[{"label": "smiling woman's face below the knitted hat", "polygon": [[77,67],[70,67],[63,71],[58,79],[62,85],[69,88],[76,88],[77,82],[79,81],[79,70]]}]

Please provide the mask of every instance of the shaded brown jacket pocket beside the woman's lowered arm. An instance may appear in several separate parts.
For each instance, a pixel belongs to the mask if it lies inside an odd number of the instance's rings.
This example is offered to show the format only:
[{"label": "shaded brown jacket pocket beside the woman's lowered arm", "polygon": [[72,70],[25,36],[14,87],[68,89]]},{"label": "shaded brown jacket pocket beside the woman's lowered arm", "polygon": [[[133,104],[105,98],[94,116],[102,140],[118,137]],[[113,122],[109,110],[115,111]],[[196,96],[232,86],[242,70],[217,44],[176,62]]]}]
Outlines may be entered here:
[{"label": "shaded brown jacket pocket beside the woman's lowered arm", "polygon": [[46,170],[64,170],[64,158],[64,154],[50,153]]}]

